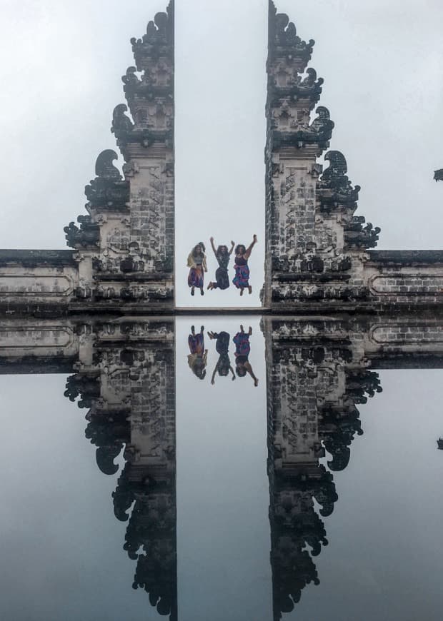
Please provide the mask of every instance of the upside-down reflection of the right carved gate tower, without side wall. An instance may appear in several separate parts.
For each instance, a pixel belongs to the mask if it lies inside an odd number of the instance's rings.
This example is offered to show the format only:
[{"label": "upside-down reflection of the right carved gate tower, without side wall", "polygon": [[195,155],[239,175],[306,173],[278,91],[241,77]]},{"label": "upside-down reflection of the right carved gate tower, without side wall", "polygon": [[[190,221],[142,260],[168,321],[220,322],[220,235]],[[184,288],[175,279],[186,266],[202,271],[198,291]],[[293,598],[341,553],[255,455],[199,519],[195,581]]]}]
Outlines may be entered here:
[{"label": "upside-down reflection of the right carved gate tower, without side wall", "polygon": [[[319,514],[338,500],[332,473],[343,470],[362,435],[356,404],[382,388],[364,367],[349,325],[322,318],[265,319],[268,381],[268,473],[274,619],[293,610],[303,588],[319,584],[314,557],[327,545]],[[309,546],[309,548],[307,547]]]}]

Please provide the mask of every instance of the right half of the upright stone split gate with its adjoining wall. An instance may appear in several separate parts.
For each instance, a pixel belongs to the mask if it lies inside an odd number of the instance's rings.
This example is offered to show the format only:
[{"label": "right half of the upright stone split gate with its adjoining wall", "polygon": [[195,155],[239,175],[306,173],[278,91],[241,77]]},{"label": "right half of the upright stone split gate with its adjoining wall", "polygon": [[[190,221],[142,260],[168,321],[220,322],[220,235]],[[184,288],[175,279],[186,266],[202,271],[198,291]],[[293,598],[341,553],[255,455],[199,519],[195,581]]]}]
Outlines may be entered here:
[{"label": "right half of the upright stone split gate with its adjoining wall", "polygon": [[[317,106],[323,79],[302,41],[269,1],[264,306],[274,312],[407,308],[443,301],[443,251],[373,251],[379,227],[355,216],[359,186],[329,147],[334,123]],[[312,120],[312,112],[317,116]]]}]

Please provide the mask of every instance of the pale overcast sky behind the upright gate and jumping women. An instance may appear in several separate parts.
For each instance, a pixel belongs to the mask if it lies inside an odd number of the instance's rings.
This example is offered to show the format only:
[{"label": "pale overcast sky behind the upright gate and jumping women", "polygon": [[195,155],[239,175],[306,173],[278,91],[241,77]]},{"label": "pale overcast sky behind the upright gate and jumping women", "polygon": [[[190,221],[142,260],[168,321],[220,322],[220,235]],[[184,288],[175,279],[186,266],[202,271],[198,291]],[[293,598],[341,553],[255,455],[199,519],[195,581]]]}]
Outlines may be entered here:
[{"label": "pale overcast sky behind the upright gate and jumping women", "polygon": [[[166,0],[0,0],[3,137],[0,247],[63,248],[84,213],[84,186],[124,101],[131,36]],[[210,9],[208,9],[210,6]],[[443,4],[440,0],[280,0],[324,77],[336,123],[331,148],[362,186],[359,212],[382,227],[379,248],[440,248],[443,183]],[[189,304],[186,256],[197,241],[264,248],[267,1],[176,0],[177,302]],[[209,278],[216,263],[209,261]],[[208,281],[206,280],[206,283]],[[193,303],[238,303],[213,291]]]}]

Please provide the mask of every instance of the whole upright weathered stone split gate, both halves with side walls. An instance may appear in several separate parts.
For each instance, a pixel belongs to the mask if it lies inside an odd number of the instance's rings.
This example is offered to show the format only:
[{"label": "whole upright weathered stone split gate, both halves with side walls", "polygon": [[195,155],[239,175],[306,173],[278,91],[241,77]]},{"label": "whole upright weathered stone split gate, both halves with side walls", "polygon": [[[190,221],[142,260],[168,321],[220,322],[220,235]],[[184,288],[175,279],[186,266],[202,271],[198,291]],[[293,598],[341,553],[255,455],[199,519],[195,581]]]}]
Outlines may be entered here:
[{"label": "whole upright weathered stone split gate, both halves with side walls", "polygon": [[[116,153],[103,151],[88,213],[65,227],[73,250],[0,251],[0,312],[174,310],[174,0],[131,43],[127,106],[114,108],[111,128],[124,177]],[[374,251],[380,230],[354,216],[359,186],[344,156],[327,152],[324,171],[317,163],[334,123],[316,108],[313,45],[270,1],[264,309],[441,304],[443,251]]]}]

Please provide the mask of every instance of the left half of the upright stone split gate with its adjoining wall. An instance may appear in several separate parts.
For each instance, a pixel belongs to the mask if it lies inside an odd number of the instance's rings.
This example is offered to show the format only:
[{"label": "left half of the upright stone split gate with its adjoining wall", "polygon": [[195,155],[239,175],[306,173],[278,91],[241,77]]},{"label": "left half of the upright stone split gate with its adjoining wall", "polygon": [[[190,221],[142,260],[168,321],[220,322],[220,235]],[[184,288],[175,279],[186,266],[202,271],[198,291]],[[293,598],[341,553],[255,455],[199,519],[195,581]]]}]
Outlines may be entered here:
[{"label": "left half of the upright stone split gate with its adjoining wall", "polygon": [[64,229],[73,251],[0,252],[0,310],[174,308],[173,0],[131,44],[127,106],[114,108],[111,127],[124,177],[116,153],[100,153],[85,188],[87,213]]}]

